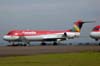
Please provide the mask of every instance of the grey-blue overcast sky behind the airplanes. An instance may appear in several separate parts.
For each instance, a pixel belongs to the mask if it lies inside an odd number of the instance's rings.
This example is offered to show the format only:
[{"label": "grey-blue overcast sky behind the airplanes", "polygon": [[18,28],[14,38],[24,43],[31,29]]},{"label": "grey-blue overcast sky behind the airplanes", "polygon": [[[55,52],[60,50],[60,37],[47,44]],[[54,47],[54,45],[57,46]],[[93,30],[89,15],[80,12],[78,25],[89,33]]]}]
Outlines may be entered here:
[{"label": "grey-blue overcast sky behind the airplanes", "polygon": [[99,0],[0,0],[0,41],[13,29],[65,30],[82,19],[97,22],[84,24],[81,35],[87,37],[69,41],[91,42],[89,33],[100,24],[99,6]]}]

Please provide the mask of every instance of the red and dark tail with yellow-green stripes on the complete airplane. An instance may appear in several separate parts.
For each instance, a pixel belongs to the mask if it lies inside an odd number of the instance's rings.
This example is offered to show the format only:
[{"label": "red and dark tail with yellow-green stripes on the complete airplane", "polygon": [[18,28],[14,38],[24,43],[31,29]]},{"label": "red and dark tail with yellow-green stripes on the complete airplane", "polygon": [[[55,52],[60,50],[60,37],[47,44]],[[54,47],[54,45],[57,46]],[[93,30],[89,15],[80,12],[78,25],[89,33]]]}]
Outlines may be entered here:
[{"label": "red and dark tail with yellow-green stripes on the complete airplane", "polygon": [[72,32],[80,32],[84,23],[92,23],[92,22],[95,22],[95,21],[82,21],[82,20],[78,20],[78,21],[76,21],[74,23],[74,26],[71,29],[71,31]]}]

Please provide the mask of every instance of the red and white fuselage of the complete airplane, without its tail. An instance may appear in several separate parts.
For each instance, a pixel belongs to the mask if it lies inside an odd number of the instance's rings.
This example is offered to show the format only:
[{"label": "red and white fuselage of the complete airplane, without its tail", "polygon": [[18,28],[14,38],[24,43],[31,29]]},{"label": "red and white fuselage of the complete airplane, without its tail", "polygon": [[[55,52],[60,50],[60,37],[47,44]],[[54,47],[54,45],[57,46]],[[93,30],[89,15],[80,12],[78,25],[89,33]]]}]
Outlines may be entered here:
[{"label": "red and white fuselage of the complete airplane, without its tail", "polygon": [[79,37],[79,32],[70,32],[70,30],[48,31],[48,30],[12,30],[3,38],[7,41],[55,41]]}]

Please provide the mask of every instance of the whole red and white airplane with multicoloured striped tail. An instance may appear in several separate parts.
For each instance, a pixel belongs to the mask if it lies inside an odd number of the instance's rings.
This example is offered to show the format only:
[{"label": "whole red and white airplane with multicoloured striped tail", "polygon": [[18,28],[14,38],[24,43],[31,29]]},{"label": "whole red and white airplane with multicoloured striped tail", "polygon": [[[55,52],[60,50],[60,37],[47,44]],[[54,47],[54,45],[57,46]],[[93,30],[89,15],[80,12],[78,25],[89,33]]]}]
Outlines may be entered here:
[{"label": "whole red and white airplane with multicoloured striped tail", "polygon": [[68,30],[11,30],[3,36],[3,39],[12,44],[23,42],[29,45],[32,41],[41,41],[41,45],[46,45],[46,41],[52,41],[53,45],[58,45],[60,41],[79,38],[83,24],[90,22],[78,20],[73,28]]}]

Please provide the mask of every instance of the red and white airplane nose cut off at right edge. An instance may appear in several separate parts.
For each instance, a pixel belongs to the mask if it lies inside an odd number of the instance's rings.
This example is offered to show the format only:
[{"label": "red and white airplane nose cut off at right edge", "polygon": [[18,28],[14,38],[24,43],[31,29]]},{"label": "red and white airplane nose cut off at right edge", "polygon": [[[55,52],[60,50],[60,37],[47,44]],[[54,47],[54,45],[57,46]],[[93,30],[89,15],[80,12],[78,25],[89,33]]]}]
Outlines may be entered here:
[{"label": "red and white airplane nose cut off at right edge", "polygon": [[100,25],[97,25],[92,29],[90,37],[96,41],[100,40]]}]

